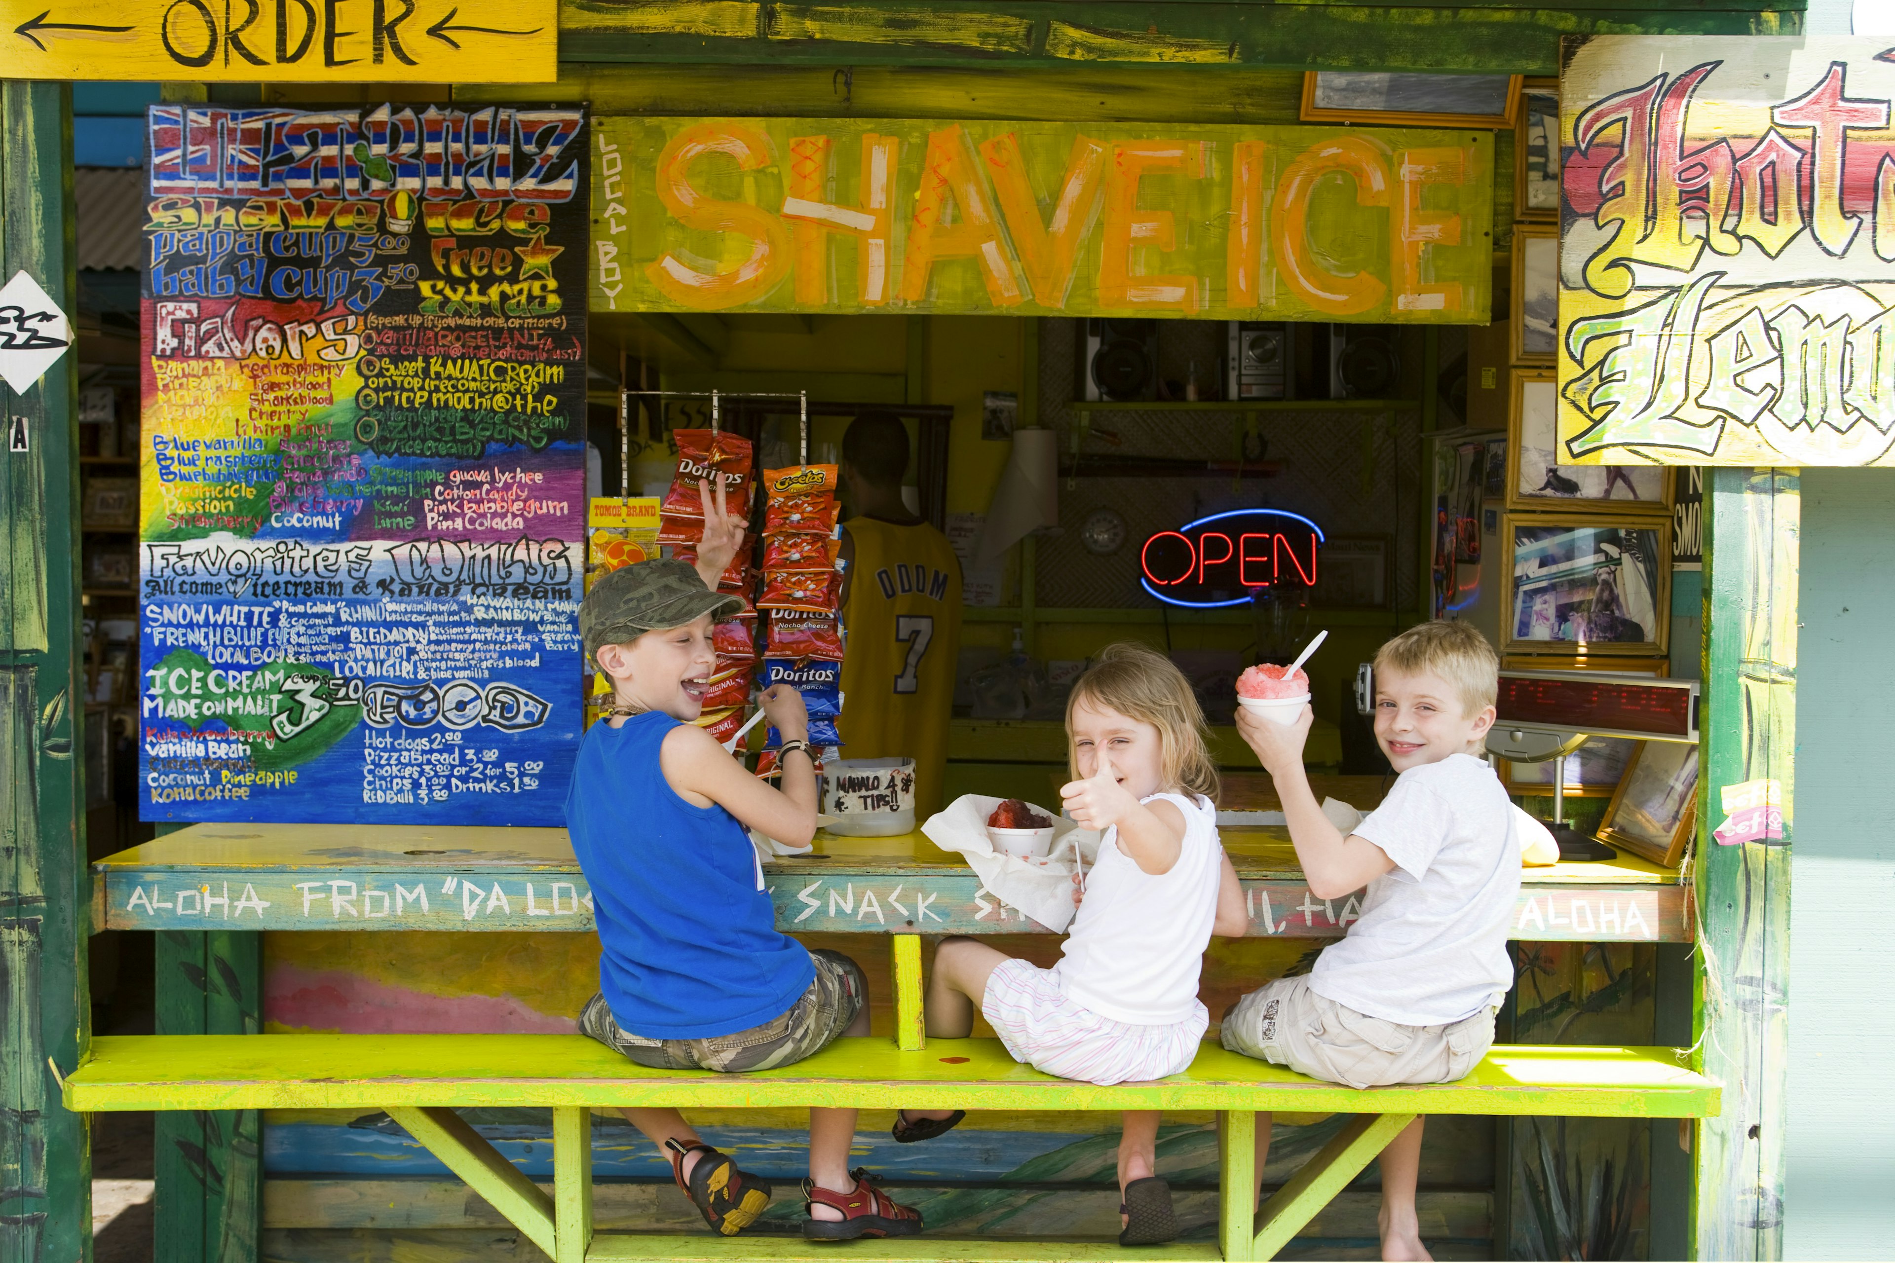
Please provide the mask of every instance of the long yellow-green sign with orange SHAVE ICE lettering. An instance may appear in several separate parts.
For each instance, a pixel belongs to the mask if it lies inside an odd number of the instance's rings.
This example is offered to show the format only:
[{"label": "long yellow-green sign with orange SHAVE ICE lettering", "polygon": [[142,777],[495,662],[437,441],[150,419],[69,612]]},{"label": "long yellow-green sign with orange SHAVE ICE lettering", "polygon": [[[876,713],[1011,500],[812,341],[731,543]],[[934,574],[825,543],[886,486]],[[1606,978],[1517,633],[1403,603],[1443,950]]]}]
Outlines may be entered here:
[{"label": "long yellow-green sign with orange SHAVE ICE lettering", "polygon": [[599,119],[593,311],[1486,324],[1493,136]]}]

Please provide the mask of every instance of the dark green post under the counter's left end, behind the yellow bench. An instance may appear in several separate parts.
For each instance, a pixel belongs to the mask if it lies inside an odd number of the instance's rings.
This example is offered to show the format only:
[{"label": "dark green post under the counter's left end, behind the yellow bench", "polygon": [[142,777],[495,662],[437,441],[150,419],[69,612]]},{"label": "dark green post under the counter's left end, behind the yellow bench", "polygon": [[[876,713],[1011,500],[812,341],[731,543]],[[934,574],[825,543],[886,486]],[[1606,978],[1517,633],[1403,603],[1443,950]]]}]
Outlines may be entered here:
[{"label": "dark green post under the counter's left end, behind the yellow bench", "polygon": [[[218,930],[157,935],[157,1034],[262,1032],[263,935]],[[256,1110],[157,1115],[157,1257],[254,1263],[262,1214]]]}]

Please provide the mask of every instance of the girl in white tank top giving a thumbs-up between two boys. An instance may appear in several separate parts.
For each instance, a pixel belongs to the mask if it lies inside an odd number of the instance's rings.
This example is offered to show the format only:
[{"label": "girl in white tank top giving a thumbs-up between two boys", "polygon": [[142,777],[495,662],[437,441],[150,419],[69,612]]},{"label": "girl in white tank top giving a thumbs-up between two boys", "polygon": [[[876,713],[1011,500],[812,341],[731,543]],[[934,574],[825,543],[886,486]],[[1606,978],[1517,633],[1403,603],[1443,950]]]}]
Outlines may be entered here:
[{"label": "girl in white tank top giving a thumbs-up between two boys", "polygon": [[[1213,934],[1249,926],[1217,839],[1217,767],[1184,674],[1135,644],[1107,648],[1067,704],[1074,780],[1065,812],[1105,829],[1078,916],[1052,969],[978,939],[946,939],[929,979],[929,1034],[965,1038],[980,1005],[1006,1051],[1092,1083],[1162,1079],[1198,1055],[1211,1021],[1198,973]],[[1158,1112],[1128,1110],[1118,1146],[1120,1244],[1177,1236],[1156,1174]]]}]

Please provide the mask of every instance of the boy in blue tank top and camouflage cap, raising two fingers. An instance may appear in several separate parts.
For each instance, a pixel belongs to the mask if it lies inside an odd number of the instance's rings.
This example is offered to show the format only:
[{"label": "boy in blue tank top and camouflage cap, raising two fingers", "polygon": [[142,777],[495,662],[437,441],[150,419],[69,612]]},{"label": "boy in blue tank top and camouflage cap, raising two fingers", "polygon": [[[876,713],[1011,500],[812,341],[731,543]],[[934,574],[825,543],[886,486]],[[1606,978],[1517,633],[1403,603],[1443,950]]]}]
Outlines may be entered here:
[{"label": "boy in blue tank top and camouflage cap, raising two fingers", "polygon": [[[709,504],[707,526],[722,523]],[[722,496],[718,496],[722,498]],[[741,523],[739,523],[741,530]],[[752,776],[692,723],[716,665],[713,621],[743,602],[714,591],[731,547],[699,570],[648,560],[599,579],[580,606],[586,655],[612,678],[614,704],[580,742],[567,827],[599,928],[599,994],[580,1030],[641,1066],[769,1070],[843,1034],[868,1034],[868,985],[839,952],[807,951],[775,928],[764,869],[745,826],[785,843],[815,835],[809,718],[788,685],[764,693],[783,733],[783,788]],[[714,553],[724,553],[716,557]],[[701,572],[709,568],[711,585]],[[769,1183],[697,1138],[677,1110],[625,1110],[671,1159],[705,1221],[730,1236],[769,1204]],[[915,1112],[896,1138],[946,1130],[959,1115]],[[809,1112],[803,1235],[908,1236],[921,1216],[849,1172],[855,1110]]]}]

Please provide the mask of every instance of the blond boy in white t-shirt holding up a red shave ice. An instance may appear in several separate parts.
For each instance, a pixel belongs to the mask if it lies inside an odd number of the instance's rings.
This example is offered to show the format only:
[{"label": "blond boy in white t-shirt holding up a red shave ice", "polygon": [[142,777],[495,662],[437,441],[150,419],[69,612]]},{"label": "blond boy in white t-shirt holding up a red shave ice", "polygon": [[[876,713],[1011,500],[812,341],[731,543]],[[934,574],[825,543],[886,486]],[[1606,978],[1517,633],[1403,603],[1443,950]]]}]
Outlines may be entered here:
[{"label": "blond boy in white t-shirt holding up a red shave ice", "polygon": [[[1493,1043],[1514,971],[1507,930],[1520,865],[1560,850],[1480,759],[1499,687],[1493,648],[1467,623],[1421,623],[1376,653],[1376,740],[1400,776],[1355,831],[1317,805],[1302,748],[1308,706],[1283,725],[1237,710],[1270,771],[1309,894],[1363,886],[1363,916],[1306,977],[1251,992],[1224,1015],[1224,1047],[1330,1083],[1446,1083]],[[1416,1119],[1381,1151],[1381,1257],[1427,1259],[1416,1219]],[[1256,1117],[1256,1170],[1270,1115]]]}]

